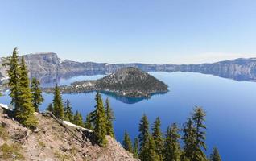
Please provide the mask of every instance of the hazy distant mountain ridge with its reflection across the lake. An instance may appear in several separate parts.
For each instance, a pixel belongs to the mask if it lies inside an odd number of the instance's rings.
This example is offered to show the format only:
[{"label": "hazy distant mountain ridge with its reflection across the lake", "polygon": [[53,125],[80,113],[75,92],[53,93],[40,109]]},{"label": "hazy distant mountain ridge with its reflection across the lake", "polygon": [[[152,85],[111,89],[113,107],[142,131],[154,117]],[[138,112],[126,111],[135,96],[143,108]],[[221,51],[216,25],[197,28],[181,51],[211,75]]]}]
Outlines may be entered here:
[{"label": "hazy distant mountain ridge with its reflection across the lake", "polygon": [[[225,60],[213,64],[107,64],[61,60],[54,52],[25,55],[31,76],[66,77],[107,74],[119,68],[134,67],[145,72],[200,72],[237,81],[256,81],[256,58]],[[0,60],[0,79],[6,77],[6,68]]]}]

